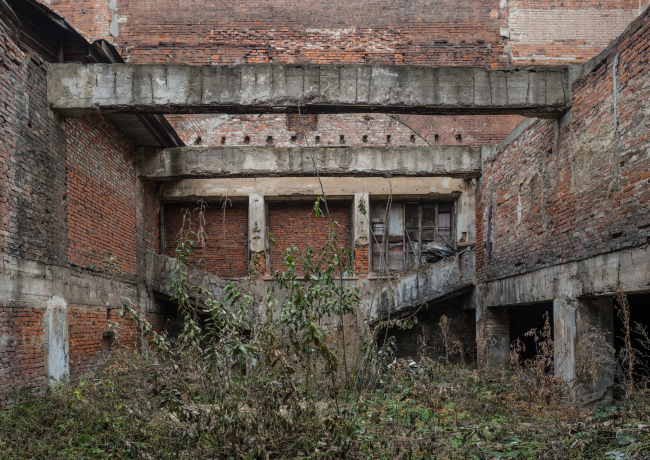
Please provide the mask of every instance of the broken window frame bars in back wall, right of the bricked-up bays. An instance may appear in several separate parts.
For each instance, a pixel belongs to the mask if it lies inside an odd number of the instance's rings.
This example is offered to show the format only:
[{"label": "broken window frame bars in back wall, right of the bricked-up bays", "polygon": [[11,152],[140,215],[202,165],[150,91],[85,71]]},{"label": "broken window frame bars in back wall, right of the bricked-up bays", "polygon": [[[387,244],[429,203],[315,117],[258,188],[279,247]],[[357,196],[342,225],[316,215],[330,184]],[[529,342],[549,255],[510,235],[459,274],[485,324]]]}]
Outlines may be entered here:
[{"label": "broken window frame bars in back wall, right of the bricked-up bays", "polygon": [[[410,212],[408,211],[410,209]],[[417,210],[417,221],[414,225],[413,210]],[[433,222],[423,219],[423,209],[433,209]],[[390,235],[391,216],[401,218],[401,242],[395,233]],[[409,217],[410,216],[410,217]],[[448,216],[442,217],[441,216]],[[448,220],[448,225],[441,225],[441,220]],[[422,248],[431,242],[444,243],[454,250],[456,206],[452,200],[438,201],[376,201],[370,204],[370,271],[376,274],[405,272],[418,268],[427,262]],[[399,223],[397,226],[399,227]],[[427,237],[430,235],[429,237]],[[415,235],[416,238],[412,236]],[[415,241],[414,241],[415,240]],[[400,250],[401,248],[401,250]],[[391,254],[390,251],[394,254]],[[401,260],[395,257],[401,252]],[[392,257],[391,257],[392,256]],[[398,263],[396,263],[398,262]]]}]

